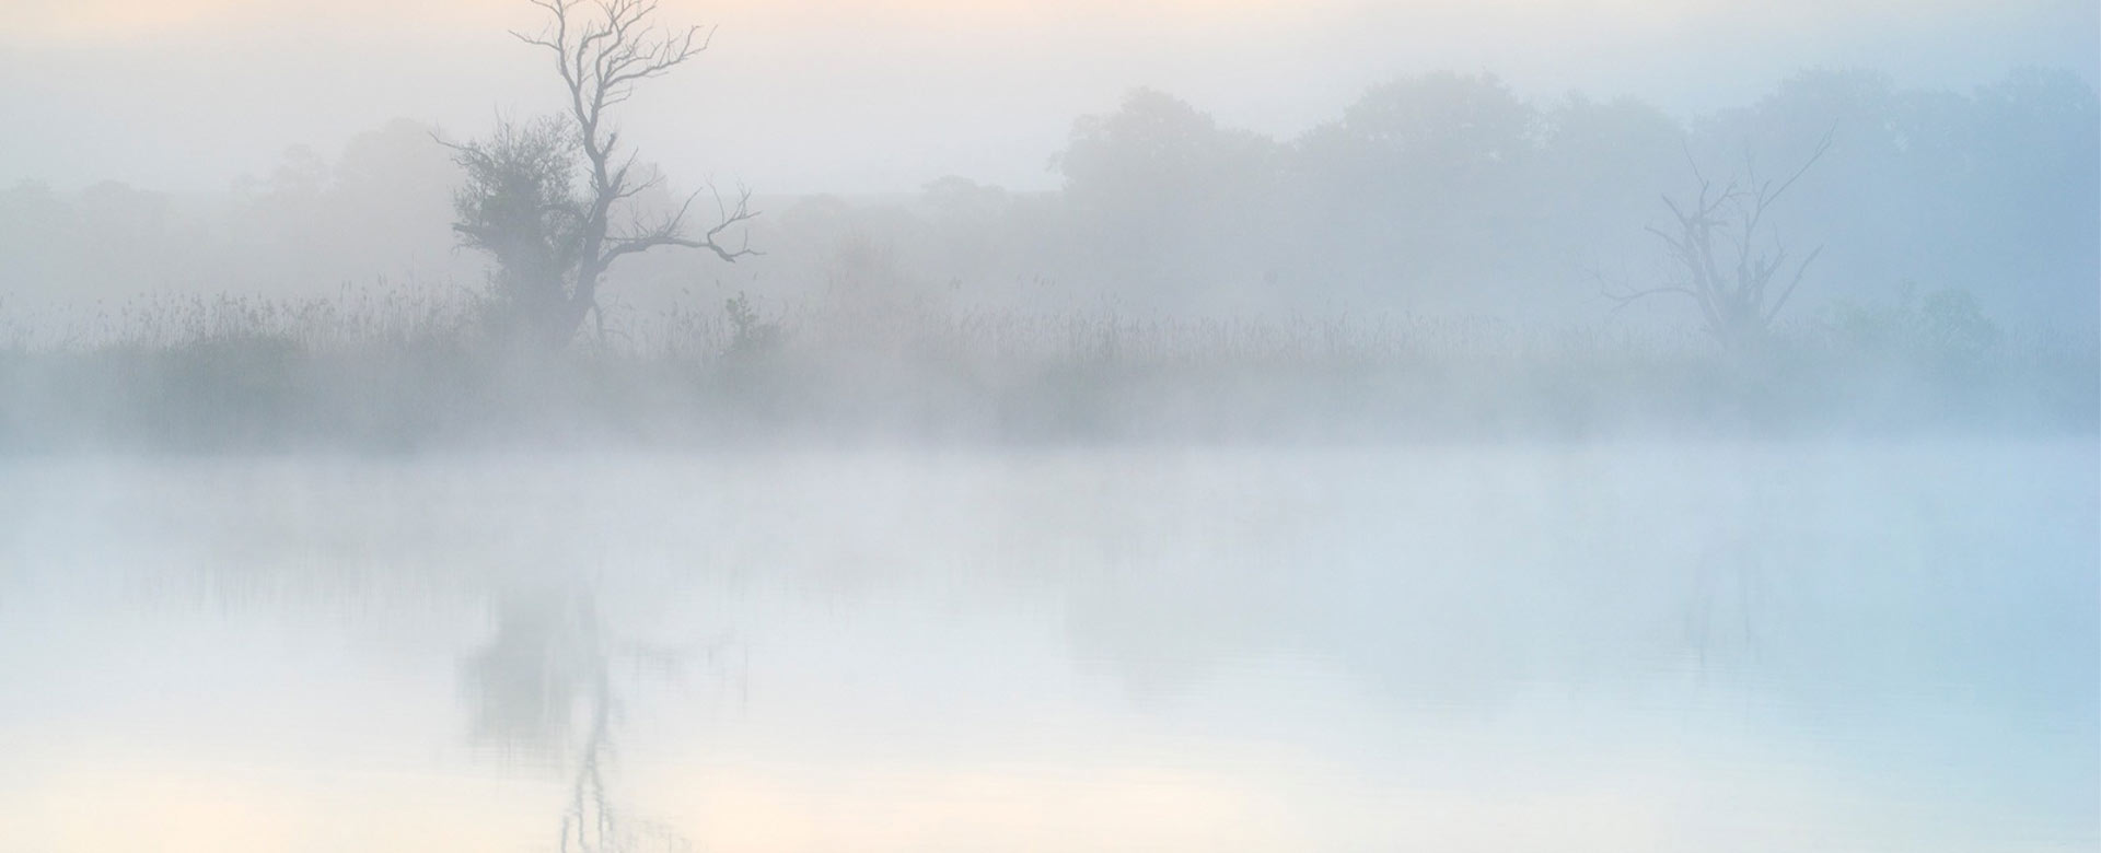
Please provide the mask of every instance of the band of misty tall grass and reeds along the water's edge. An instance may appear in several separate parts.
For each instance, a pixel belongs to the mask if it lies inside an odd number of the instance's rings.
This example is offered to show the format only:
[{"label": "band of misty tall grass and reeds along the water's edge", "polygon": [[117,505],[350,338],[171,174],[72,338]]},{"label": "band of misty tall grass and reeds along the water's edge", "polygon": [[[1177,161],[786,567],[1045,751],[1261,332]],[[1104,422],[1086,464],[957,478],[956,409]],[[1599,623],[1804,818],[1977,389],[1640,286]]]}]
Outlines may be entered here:
[{"label": "band of misty tall grass and reeds along the water's edge", "polygon": [[[2090,340],[1803,324],[1696,334],[1494,319],[1145,317],[935,303],[609,311],[563,353],[429,288],[0,303],[0,450],[412,450],[754,439],[1569,439],[2095,431]],[[1855,317],[1857,319],[1857,317]],[[1870,324],[1872,326],[1872,324]]]}]

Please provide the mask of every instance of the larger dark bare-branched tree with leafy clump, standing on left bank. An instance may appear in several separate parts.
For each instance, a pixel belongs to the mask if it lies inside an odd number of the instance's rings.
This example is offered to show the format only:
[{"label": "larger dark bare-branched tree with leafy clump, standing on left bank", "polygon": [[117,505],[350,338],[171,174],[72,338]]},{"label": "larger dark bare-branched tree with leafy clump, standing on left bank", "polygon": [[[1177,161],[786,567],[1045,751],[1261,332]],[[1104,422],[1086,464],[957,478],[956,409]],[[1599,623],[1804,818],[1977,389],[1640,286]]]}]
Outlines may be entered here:
[{"label": "larger dark bare-branched tree with leafy clump, standing on left bank", "polygon": [[[645,216],[630,206],[639,193],[662,185],[653,170],[637,170],[635,151],[622,153],[620,130],[607,109],[624,103],[635,84],[668,74],[708,48],[714,29],[666,29],[653,23],[653,0],[529,0],[550,15],[540,34],[513,32],[544,48],[567,90],[567,116],[532,126],[504,124],[481,143],[452,145],[469,183],[454,200],[454,231],[471,248],[498,261],[498,290],[511,317],[548,347],[565,347],[584,315],[597,311],[599,284],[613,261],[658,246],[714,252],[735,263],[758,254],[748,235],[737,246],[725,233],[758,216],[752,193],[725,202],[710,185],[714,223],[689,216],[702,191],[670,214]],[[584,187],[574,187],[574,172]],[[645,174],[647,172],[647,174]],[[742,231],[742,229],[740,229]]]}]

